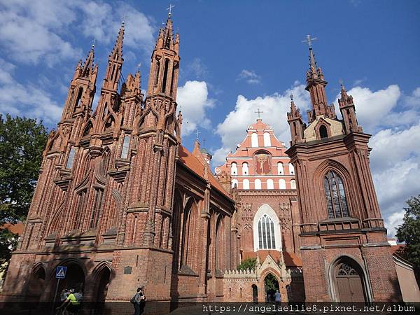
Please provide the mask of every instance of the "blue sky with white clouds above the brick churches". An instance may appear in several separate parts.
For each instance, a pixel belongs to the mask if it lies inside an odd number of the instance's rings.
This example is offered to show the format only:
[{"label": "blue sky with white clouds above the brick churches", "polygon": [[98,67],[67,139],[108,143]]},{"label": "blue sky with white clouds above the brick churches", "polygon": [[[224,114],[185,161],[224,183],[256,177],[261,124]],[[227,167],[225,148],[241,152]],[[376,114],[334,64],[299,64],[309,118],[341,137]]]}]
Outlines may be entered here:
[{"label": "blue sky with white clouds above the brick churches", "polygon": [[[172,1],[181,35],[179,107],[183,144],[195,130],[214,154],[235,149],[246,126],[262,119],[288,144],[289,94],[302,110],[307,34],[337,104],[339,79],[353,95],[360,125],[372,134],[371,168],[393,235],[404,200],[420,193],[419,1]],[[78,59],[95,39],[97,90],[125,15],[123,76],[151,51],[169,1],[0,0],[0,113],[41,118],[52,128]],[[96,104],[97,99],[94,101]],[[188,123],[186,123],[188,122]]]}]

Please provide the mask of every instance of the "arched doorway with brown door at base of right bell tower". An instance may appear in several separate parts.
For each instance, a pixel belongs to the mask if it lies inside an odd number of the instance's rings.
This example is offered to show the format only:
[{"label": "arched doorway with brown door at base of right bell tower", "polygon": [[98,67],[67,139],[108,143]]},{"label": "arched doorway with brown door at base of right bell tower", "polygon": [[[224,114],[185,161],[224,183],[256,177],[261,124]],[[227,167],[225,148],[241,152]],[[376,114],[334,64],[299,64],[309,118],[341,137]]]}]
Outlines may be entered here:
[{"label": "arched doorway with brown door at base of right bell tower", "polygon": [[337,302],[367,302],[365,276],[355,260],[339,258],[332,268],[332,283]]}]

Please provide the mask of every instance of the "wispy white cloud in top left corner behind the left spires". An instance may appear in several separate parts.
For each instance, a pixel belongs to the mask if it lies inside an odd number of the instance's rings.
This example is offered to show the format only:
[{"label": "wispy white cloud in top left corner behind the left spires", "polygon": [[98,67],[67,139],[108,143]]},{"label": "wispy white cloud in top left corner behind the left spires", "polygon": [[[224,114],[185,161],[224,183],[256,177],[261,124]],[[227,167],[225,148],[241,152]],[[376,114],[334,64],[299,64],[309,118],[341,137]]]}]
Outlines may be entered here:
[{"label": "wispy white cloud in top left corner behind the left spires", "polygon": [[0,47],[9,59],[26,64],[56,64],[80,58],[82,50],[67,38],[78,38],[69,27],[102,43],[115,40],[125,18],[125,47],[149,53],[153,49],[151,20],[126,3],[100,1],[0,0]]}]

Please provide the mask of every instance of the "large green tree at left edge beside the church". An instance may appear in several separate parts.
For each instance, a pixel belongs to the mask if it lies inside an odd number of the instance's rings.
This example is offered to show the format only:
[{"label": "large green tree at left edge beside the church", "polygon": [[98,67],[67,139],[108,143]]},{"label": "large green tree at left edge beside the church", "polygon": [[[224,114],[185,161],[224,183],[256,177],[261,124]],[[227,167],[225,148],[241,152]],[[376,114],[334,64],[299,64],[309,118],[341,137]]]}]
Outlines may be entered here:
[{"label": "large green tree at left edge beside the church", "polygon": [[[0,115],[0,226],[25,220],[47,137],[42,122]],[[0,266],[10,258],[16,239],[9,230],[0,231]]]}]

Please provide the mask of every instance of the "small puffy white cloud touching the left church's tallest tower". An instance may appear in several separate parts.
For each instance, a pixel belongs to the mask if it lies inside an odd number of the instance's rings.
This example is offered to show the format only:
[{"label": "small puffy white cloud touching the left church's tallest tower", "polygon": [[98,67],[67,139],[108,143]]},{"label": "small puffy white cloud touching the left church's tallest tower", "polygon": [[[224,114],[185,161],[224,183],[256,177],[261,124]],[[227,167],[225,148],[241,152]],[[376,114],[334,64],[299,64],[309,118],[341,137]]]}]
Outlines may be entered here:
[{"label": "small puffy white cloud touching the left church's tallest tower", "polygon": [[182,134],[188,135],[194,130],[211,126],[206,110],[214,106],[214,100],[209,99],[207,83],[204,81],[187,81],[178,88],[178,109],[182,111]]}]

